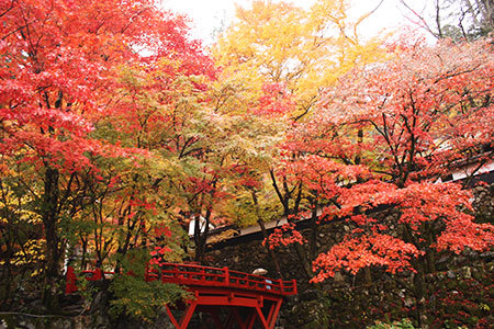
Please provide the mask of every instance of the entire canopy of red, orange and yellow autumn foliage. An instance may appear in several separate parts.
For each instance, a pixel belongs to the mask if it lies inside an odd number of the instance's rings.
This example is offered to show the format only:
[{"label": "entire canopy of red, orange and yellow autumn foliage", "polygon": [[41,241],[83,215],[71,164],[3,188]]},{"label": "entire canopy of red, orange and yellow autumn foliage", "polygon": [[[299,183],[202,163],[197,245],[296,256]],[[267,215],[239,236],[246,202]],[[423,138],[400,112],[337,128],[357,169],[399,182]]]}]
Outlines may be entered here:
[{"label": "entire canopy of red, orange and yellow autumn foliage", "polygon": [[27,277],[49,304],[64,261],[202,262],[210,224],[283,217],[265,246],[313,283],[492,248],[464,189],[492,162],[492,41],[361,39],[316,2],[238,9],[210,53],[153,0],[0,0],[0,294]]}]

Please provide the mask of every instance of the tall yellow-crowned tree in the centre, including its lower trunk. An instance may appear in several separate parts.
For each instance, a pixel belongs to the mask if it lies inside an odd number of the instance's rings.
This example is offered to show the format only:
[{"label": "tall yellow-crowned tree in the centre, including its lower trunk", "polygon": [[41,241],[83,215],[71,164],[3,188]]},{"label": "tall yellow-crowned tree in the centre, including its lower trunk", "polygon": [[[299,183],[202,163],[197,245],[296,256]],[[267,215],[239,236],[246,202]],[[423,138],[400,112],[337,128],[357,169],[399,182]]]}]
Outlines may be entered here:
[{"label": "tall yellow-crowned tree in the centre, including its lower trunk", "polygon": [[[351,19],[349,8],[349,1],[317,1],[308,10],[285,2],[254,1],[251,8],[237,8],[236,21],[214,47],[223,86],[237,90],[237,94],[220,93],[223,107],[235,109],[224,112],[237,116],[244,113],[249,122],[284,125],[270,132],[271,136],[276,134],[277,144],[259,135],[250,138],[271,149],[269,160],[250,162],[254,177],[260,182],[258,188],[237,192],[242,195],[240,207],[257,209],[251,213],[258,214],[257,219],[259,215],[262,220],[300,218],[305,186],[287,179],[283,160],[291,156],[289,152],[296,157],[297,150],[280,148],[289,127],[317,112],[321,91],[337,77],[358,64],[385,57],[379,38],[362,41],[359,36],[358,27],[370,13]],[[259,212],[265,208],[260,204],[272,204],[272,194],[267,193],[270,185],[282,212]],[[295,215],[293,220],[289,215]],[[261,228],[262,220],[257,220]],[[296,248],[308,277],[310,262]]]}]

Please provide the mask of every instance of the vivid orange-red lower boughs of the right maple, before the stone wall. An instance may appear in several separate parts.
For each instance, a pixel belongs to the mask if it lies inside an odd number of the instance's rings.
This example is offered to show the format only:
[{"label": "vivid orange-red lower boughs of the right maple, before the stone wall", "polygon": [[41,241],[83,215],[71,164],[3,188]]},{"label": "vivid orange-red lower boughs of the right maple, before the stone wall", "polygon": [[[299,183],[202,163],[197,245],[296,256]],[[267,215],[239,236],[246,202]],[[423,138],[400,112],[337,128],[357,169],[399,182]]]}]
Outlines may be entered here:
[{"label": "vivid orange-red lower boughs of the right maple, before the stone wall", "polygon": [[364,209],[371,209],[388,205],[394,208],[397,217],[350,216],[350,220],[361,228],[318,256],[313,264],[314,271],[318,272],[314,282],[333,276],[335,271],[356,274],[370,265],[382,266],[391,273],[414,272],[411,259],[424,256],[430,248],[459,253],[465,248],[482,251],[494,245],[493,226],[475,224],[474,217],[464,213],[464,209],[472,209],[471,194],[461,185],[427,182],[411,183],[403,189],[378,185],[382,189],[361,189],[359,185],[348,189],[340,198],[341,208],[355,209],[355,205],[362,205]]}]

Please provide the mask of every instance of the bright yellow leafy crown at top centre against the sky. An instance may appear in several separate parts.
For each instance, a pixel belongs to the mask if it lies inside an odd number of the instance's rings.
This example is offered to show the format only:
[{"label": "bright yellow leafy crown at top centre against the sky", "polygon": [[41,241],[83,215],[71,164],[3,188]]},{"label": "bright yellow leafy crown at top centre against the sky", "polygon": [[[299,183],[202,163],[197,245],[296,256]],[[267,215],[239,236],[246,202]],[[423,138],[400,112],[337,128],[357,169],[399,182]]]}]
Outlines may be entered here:
[{"label": "bright yellow leafy crown at top centre against the sky", "polygon": [[265,83],[283,82],[293,93],[293,117],[310,112],[322,89],[357,65],[382,58],[380,39],[359,42],[347,0],[316,1],[310,9],[284,2],[254,1],[237,8],[237,21],[213,49],[221,81],[246,87],[255,100]]}]

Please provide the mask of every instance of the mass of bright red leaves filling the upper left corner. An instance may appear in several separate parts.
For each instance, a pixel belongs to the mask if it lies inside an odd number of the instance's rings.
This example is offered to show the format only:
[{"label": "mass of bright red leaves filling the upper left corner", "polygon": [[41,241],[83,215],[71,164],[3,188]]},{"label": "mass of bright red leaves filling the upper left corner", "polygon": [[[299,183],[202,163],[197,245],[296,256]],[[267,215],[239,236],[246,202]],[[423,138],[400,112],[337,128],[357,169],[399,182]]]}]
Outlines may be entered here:
[{"label": "mass of bright red leaves filling the upper left corner", "polygon": [[127,156],[91,136],[120,106],[124,66],[153,70],[167,58],[175,71],[214,76],[183,18],[154,1],[3,1],[0,12],[2,154],[23,149],[69,171],[88,167],[88,155]]}]

